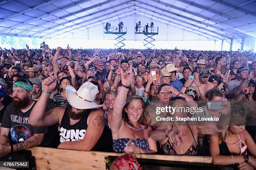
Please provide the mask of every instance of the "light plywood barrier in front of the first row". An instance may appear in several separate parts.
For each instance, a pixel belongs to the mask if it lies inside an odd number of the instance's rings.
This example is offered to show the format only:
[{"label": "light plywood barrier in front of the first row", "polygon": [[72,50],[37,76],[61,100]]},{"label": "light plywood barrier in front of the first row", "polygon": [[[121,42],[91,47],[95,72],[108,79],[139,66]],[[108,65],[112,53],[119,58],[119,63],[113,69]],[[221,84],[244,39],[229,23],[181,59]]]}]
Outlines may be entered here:
[{"label": "light plywood barrier in front of the first row", "polygon": [[[29,150],[36,157],[37,170],[105,170],[105,156],[123,155],[122,153],[114,152],[84,152],[49,147],[33,147]],[[136,157],[154,160],[212,163],[212,157],[204,156],[137,154]]]}]

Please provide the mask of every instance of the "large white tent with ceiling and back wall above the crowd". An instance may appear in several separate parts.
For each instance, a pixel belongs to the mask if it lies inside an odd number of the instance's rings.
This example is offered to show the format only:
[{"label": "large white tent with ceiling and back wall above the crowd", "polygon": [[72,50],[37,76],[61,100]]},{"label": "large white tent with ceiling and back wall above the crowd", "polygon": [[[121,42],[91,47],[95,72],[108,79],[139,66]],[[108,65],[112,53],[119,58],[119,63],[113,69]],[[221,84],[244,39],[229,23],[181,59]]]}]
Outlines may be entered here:
[{"label": "large white tent with ceiling and back wall above the crowd", "polygon": [[[127,27],[124,48],[142,48],[138,21],[154,22],[156,48],[249,50],[256,41],[256,0],[3,0],[0,46],[113,48],[107,22]],[[15,42],[16,41],[16,42]]]}]

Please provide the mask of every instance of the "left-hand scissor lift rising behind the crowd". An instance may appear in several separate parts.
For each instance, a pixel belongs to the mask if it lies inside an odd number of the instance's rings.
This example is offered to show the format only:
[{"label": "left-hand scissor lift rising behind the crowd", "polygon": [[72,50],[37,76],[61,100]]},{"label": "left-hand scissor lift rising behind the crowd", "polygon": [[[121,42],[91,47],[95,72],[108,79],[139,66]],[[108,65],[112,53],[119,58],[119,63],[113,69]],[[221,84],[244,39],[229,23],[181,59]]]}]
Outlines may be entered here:
[{"label": "left-hand scissor lift rising behind the crowd", "polygon": [[110,27],[108,29],[108,31],[105,30],[104,33],[105,34],[115,34],[116,36],[118,36],[117,38],[115,38],[115,40],[118,41],[117,43],[115,43],[115,46],[118,47],[118,49],[125,46],[125,43],[123,43],[123,41],[125,41],[125,38],[123,38],[123,36],[127,33],[126,27],[123,27],[123,28]]}]

